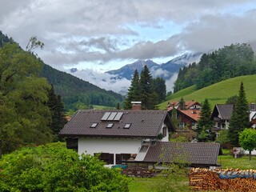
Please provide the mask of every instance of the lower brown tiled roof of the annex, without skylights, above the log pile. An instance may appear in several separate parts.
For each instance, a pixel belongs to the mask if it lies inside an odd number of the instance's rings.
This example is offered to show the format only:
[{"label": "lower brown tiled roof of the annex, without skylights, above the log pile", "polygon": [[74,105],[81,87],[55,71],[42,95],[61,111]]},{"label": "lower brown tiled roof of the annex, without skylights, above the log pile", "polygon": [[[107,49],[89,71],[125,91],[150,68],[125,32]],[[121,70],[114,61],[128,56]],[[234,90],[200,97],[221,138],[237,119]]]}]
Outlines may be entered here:
[{"label": "lower brown tiled roof of the annex, without skylights, above the log pile", "polygon": [[193,165],[216,166],[219,143],[211,142],[155,142],[144,162],[175,162],[182,158]]}]

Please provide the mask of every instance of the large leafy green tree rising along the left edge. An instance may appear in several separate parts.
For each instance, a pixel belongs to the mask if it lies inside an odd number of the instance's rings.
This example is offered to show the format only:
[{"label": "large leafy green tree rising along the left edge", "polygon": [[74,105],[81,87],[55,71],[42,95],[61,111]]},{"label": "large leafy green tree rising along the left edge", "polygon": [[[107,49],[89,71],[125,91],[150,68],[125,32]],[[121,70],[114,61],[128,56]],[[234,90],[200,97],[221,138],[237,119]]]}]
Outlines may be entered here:
[{"label": "large leafy green tree rising along the left edge", "polygon": [[33,54],[13,43],[0,48],[0,139],[7,153],[20,146],[52,140],[46,106],[50,85],[38,78],[40,64]]}]

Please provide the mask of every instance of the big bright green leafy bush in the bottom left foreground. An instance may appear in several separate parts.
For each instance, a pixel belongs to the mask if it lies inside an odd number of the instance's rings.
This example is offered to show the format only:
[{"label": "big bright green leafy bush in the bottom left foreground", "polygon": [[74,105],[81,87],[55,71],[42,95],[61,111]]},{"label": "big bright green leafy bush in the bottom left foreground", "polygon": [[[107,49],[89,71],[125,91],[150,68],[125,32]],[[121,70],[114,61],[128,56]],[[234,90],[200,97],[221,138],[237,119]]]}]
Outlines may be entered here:
[{"label": "big bright green leafy bush in the bottom left foreground", "polygon": [[128,191],[118,169],[97,157],[67,150],[64,143],[23,148],[0,161],[1,191]]}]

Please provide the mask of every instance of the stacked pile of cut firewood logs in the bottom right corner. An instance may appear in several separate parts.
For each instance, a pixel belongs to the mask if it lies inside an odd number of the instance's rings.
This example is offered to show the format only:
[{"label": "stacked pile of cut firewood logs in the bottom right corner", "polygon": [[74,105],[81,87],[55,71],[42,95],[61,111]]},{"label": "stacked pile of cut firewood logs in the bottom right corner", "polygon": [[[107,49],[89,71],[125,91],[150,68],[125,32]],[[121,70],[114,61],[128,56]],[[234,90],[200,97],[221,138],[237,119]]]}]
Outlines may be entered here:
[{"label": "stacked pile of cut firewood logs in the bottom right corner", "polygon": [[[190,186],[194,190],[256,191],[256,170],[190,170]],[[220,177],[226,175],[226,177]]]}]

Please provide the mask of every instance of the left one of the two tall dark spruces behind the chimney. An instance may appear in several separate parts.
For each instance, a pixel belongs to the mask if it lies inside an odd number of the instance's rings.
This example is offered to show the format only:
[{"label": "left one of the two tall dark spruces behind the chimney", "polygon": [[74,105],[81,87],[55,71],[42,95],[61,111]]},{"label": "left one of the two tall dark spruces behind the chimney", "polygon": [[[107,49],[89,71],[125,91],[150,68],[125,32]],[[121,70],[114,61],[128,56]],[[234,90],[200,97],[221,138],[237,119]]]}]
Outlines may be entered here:
[{"label": "left one of the two tall dark spruces behind the chimney", "polygon": [[130,87],[128,89],[127,97],[124,102],[123,108],[125,110],[131,109],[131,102],[138,102],[139,99],[139,75],[138,70],[134,71],[134,76],[131,80]]}]

